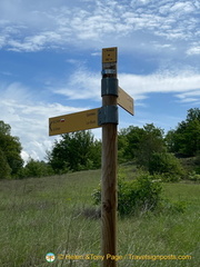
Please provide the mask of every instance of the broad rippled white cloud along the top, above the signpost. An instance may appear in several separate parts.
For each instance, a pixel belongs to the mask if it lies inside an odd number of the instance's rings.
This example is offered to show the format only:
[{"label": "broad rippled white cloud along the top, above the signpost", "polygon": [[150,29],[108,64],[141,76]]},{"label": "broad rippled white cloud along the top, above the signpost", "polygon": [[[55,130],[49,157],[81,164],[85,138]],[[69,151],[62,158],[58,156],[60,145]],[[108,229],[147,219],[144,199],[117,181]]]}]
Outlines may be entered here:
[{"label": "broad rippled white cloud along the top, above the signpost", "polygon": [[[14,51],[38,51],[66,43],[98,46],[128,38],[136,41],[146,32],[150,40],[197,39],[199,2],[192,1],[66,1],[2,0],[0,3],[0,47]],[[48,8],[47,8],[48,6]]]}]

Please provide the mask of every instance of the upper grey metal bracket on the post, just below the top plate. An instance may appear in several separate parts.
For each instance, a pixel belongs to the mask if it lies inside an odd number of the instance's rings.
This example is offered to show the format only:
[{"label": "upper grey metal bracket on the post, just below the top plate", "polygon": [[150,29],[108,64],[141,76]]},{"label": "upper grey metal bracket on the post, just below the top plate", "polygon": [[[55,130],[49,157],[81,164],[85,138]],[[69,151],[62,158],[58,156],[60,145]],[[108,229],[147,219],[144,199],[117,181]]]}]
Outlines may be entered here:
[{"label": "upper grey metal bracket on the post, just below the top plate", "polygon": [[118,79],[117,78],[101,79],[101,97],[103,96],[118,97]]}]

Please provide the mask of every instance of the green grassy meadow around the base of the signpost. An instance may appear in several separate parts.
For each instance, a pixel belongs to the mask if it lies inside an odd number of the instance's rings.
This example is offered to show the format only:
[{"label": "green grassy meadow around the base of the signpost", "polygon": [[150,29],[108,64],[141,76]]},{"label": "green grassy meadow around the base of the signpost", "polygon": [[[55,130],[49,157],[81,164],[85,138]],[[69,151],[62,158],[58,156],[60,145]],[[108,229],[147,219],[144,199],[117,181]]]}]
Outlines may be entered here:
[{"label": "green grassy meadow around the base of the signpost", "polygon": [[[131,167],[126,169],[132,174]],[[66,176],[0,181],[0,266],[101,266],[99,260],[56,260],[47,253],[100,255],[101,221],[92,219],[91,194],[100,170]],[[191,255],[191,260],[122,259],[119,266],[200,266],[198,250],[200,185],[163,184],[184,214],[141,215],[118,220],[118,255]],[[91,211],[92,212],[92,211]]]}]

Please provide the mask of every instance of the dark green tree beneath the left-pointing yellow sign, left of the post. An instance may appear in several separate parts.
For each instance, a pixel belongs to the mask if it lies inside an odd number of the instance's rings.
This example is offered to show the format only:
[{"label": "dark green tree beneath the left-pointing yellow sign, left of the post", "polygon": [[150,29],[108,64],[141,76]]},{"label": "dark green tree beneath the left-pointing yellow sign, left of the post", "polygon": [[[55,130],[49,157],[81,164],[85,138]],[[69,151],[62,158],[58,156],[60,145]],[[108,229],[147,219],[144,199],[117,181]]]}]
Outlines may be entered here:
[{"label": "dark green tree beneath the left-pointing yellow sign, left of the post", "polygon": [[100,142],[94,141],[90,131],[62,135],[48,156],[49,164],[57,174],[68,170],[99,168],[101,164]]}]

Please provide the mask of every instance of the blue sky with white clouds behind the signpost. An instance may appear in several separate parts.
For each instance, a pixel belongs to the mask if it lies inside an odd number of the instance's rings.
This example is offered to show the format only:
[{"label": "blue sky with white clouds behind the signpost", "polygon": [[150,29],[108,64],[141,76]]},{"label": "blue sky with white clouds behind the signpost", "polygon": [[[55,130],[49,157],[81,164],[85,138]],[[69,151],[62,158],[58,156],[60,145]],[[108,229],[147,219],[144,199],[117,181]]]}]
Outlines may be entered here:
[{"label": "blue sky with white clouds behind the signpost", "polygon": [[49,117],[101,106],[102,48],[118,47],[119,85],[134,99],[119,129],[176,128],[200,106],[199,18],[199,0],[1,0],[0,120],[23,159],[42,160],[59,138]]}]

